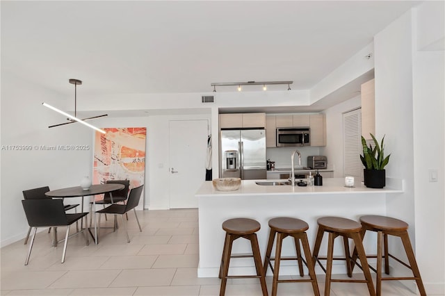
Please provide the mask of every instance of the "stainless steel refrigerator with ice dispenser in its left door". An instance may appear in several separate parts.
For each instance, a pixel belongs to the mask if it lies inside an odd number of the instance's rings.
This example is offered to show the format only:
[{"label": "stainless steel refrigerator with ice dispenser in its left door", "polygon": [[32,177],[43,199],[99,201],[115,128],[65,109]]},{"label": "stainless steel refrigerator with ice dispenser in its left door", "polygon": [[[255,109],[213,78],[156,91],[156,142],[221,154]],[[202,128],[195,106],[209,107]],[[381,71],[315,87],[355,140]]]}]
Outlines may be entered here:
[{"label": "stainless steel refrigerator with ice dispenser in its left door", "polygon": [[266,130],[221,130],[220,177],[267,179]]}]

